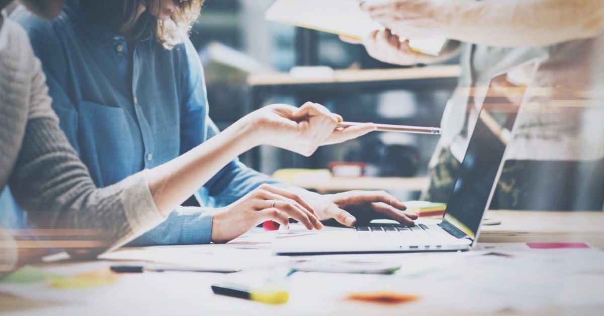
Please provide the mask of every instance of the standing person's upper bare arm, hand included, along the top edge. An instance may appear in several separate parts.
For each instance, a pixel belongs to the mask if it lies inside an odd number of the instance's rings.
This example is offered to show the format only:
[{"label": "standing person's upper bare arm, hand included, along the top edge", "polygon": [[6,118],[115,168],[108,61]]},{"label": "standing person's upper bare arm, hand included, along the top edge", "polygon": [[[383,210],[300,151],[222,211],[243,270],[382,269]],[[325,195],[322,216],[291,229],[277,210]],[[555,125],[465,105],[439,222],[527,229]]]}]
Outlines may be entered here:
[{"label": "standing person's upper bare arm, hand included, along the top edge", "polygon": [[362,8],[406,37],[439,35],[500,47],[543,47],[604,29],[603,0],[375,0]]}]

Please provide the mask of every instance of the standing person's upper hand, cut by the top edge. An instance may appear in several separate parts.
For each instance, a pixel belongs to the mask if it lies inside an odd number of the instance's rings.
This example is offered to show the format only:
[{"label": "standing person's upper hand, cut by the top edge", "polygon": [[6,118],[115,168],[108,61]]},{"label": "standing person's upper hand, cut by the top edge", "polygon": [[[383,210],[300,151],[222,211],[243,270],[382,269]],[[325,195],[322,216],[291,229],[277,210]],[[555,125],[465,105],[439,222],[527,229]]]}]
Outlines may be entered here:
[{"label": "standing person's upper hand, cut by the top edge", "polygon": [[445,2],[434,0],[372,0],[361,4],[371,19],[408,39],[442,36],[448,15]]}]

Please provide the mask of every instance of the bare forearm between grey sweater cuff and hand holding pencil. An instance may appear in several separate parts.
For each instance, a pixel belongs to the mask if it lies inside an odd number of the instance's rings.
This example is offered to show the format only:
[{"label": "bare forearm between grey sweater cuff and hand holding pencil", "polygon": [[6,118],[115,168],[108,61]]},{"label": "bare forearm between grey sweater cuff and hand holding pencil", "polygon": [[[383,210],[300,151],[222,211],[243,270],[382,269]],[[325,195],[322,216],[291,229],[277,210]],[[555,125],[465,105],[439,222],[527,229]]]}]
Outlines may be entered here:
[{"label": "bare forearm between grey sweater cuff and hand holding pencil", "polygon": [[162,213],[172,211],[235,157],[259,145],[257,137],[254,137],[255,126],[244,120],[237,121],[178,158],[150,170],[149,187]]}]

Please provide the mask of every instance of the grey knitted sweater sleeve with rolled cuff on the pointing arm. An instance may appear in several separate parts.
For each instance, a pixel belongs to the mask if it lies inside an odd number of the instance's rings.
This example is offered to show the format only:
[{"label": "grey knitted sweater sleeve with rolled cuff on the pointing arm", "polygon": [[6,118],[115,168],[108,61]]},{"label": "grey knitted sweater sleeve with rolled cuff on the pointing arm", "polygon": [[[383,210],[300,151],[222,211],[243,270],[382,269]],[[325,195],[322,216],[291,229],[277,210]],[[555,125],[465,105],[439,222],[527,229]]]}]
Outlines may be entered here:
[{"label": "grey knitted sweater sleeve with rolled cuff on the pointing arm", "polygon": [[[75,239],[94,236],[83,247],[88,251],[71,248],[74,243],[68,247],[72,254],[92,255],[120,247],[160,224],[165,218],[153,201],[146,171],[103,189],[95,186],[59,127],[33,54],[32,65],[29,119],[9,181],[28,218],[40,229],[69,230]],[[85,231],[86,237],[77,231]]]}]

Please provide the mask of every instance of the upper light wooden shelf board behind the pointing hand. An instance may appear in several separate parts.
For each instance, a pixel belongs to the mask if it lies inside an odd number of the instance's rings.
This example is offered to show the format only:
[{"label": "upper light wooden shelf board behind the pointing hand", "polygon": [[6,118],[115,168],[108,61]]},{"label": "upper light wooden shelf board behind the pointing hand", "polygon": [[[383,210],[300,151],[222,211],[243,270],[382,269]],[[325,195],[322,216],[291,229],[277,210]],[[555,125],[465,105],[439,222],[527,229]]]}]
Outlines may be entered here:
[{"label": "upper light wooden shelf board behind the pointing hand", "polygon": [[310,83],[356,83],[398,80],[457,78],[459,65],[426,66],[400,69],[343,69],[327,77],[293,77],[289,73],[262,73],[248,76],[250,86],[305,85]]}]

